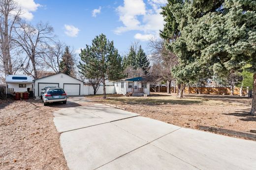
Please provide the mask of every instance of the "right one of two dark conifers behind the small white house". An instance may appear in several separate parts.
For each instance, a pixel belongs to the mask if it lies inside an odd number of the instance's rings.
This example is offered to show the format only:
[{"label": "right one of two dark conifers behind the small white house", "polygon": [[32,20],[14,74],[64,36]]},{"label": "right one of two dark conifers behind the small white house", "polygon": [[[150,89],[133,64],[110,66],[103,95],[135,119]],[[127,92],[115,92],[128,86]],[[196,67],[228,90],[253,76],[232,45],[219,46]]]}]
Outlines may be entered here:
[{"label": "right one of two dark conifers behind the small white house", "polygon": [[150,62],[147,58],[146,53],[144,50],[139,46],[138,52],[136,54],[136,60],[135,60],[135,68],[141,68],[145,75],[149,72],[150,69]]}]

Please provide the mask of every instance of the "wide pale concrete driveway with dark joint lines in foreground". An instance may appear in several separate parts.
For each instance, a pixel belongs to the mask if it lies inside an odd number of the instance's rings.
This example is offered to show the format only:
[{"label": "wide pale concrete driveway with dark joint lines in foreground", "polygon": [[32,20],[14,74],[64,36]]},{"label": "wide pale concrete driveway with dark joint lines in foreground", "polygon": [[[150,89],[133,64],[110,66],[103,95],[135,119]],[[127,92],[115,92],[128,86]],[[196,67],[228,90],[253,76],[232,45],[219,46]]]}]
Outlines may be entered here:
[{"label": "wide pale concrete driveway with dark joint lines in foreground", "polygon": [[256,170],[256,142],[96,104],[54,112],[70,170]]}]

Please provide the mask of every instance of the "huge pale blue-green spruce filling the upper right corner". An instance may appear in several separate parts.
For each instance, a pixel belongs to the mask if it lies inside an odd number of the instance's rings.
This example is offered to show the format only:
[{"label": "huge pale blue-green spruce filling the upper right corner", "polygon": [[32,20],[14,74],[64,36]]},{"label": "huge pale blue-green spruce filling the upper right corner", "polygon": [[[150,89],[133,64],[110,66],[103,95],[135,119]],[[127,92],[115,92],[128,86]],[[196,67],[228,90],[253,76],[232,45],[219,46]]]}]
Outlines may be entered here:
[{"label": "huge pale blue-green spruce filling the upper right corner", "polygon": [[[169,0],[174,1],[174,0]],[[168,46],[179,58],[173,69],[183,81],[213,72],[239,71],[245,64],[254,74],[251,114],[256,112],[255,0],[186,0],[172,10],[180,36]],[[172,25],[171,23],[169,25]],[[198,76],[199,75],[199,76]]]}]

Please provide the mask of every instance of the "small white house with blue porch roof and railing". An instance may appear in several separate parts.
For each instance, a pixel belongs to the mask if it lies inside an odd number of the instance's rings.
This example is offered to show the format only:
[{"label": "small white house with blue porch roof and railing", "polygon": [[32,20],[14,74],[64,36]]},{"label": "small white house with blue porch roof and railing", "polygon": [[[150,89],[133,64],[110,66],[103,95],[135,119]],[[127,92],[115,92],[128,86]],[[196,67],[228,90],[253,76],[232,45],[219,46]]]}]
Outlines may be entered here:
[{"label": "small white house with blue porch roof and railing", "polygon": [[117,94],[130,94],[131,96],[144,96],[150,94],[150,83],[142,77],[133,77],[114,82]]}]

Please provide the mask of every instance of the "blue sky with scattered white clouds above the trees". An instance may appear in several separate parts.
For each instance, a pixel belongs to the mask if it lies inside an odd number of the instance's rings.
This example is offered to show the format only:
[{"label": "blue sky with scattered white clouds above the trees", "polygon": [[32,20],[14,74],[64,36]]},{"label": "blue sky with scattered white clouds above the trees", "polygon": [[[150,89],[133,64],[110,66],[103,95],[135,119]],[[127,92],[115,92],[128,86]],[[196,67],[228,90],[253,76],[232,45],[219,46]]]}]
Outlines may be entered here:
[{"label": "blue sky with scattered white clouds above the trees", "polygon": [[148,40],[159,36],[163,21],[160,6],[166,0],[20,0],[24,18],[32,24],[48,22],[58,38],[75,50],[91,44],[101,33],[114,40],[125,54],[139,40],[147,49]]}]

